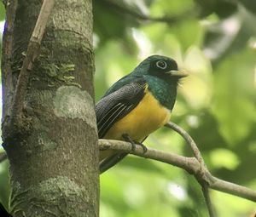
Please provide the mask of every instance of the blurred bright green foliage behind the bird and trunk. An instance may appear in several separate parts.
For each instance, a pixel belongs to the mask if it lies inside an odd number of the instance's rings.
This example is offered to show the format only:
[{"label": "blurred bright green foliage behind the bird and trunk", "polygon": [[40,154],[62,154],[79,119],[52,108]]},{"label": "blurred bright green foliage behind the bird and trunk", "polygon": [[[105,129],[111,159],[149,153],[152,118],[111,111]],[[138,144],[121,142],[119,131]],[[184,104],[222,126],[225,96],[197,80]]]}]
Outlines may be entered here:
[{"label": "blurred bright green foliage behind the bird and trunk", "polygon": [[[189,71],[172,122],[194,138],[209,170],[256,190],[256,1],[94,0],[96,100],[151,54]],[[0,3],[0,26],[4,10]],[[170,129],[146,145],[192,156]],[[0,165],[6,205],[8,163]],[[218,216],[254,216],[256,204],[211,191]],[[101,217],[207,216],[201,187],[181,168],[129,156],[101,176]]]}]

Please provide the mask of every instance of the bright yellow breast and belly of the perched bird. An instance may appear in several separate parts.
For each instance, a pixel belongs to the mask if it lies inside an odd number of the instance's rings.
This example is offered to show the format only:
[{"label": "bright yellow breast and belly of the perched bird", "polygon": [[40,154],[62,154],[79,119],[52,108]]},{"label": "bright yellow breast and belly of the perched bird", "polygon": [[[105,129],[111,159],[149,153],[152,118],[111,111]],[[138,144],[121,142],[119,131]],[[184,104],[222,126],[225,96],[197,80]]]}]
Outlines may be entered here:
[{"label": "bright yellow breast and belly of the perched bird", "polygon": [[121,118],[104,136],[105,139],[123,140],[122,134],[129,134],[132,140],[141,142],[148,134],[168,122],[171,111],[161,106],[148,89],[143,100],[125,117]]}]

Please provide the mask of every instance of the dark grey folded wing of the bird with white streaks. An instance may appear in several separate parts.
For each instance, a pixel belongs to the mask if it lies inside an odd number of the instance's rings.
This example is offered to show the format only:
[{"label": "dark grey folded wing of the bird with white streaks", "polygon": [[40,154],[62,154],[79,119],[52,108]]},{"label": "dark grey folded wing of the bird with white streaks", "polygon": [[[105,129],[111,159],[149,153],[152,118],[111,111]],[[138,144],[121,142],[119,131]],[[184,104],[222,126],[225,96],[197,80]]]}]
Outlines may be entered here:
[{"label": "dark grey folded wing of the bird with white streaks", "polygon": [[143,99],[146,82],[138,80],[104,96],[96,104],[99,138],[104,138],[114,123],[125,117]]}]

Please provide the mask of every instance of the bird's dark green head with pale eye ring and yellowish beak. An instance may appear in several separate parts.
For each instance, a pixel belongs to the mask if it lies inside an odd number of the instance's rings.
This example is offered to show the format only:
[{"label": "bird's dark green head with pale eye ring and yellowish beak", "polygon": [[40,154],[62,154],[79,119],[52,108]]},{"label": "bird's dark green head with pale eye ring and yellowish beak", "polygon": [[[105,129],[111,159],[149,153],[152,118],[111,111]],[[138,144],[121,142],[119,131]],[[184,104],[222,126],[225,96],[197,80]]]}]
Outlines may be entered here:
[{"label": "bird's dark green head with pale eye ring and yellowish beak", "polygon": [[188,76],[186,71],[178,70],[175,60],[161,55],[149,56],[136,67],[132,74],[139,76],[150,75],[173,81],[178,81],[178,79]]}]

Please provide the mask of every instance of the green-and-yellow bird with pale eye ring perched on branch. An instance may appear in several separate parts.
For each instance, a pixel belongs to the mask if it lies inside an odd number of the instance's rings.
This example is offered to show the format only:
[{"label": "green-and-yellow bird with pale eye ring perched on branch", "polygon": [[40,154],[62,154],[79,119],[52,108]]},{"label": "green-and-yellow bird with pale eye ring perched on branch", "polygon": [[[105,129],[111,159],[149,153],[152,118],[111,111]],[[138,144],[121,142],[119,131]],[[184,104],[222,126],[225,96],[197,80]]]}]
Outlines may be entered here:
[{"label": "green-and-yellow bird with pale eye ring perched on branch", "polygon": [[[185,76],[184,71],[178,71],[176,61],[166,56],[152,55],[143,60],[130,74],[114,83],[96,104],[99,138],[142,145],[148,134],[168,122],[178,80]],[[119,151],[100,151],[100,172],[126,155]]]}]

